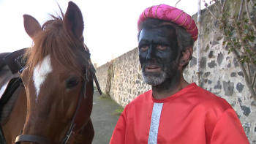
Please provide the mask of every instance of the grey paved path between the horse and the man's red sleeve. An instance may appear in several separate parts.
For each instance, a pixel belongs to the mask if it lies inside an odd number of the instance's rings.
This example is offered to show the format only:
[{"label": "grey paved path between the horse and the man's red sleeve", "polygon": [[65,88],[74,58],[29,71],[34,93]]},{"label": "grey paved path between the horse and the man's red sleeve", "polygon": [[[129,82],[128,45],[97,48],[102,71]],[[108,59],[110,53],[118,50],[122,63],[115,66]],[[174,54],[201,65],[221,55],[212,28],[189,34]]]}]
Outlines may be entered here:
[{"label": "grey paved path between the horse and the man's red sleeve", "polygon": [[105,94],[100,96],[98,91],[94,91],[94,105],[91,113],[91,121],[95,131],[93,144],[109,144],[120,115],[115,110],[120,109],[122,107],[108,96]]}]

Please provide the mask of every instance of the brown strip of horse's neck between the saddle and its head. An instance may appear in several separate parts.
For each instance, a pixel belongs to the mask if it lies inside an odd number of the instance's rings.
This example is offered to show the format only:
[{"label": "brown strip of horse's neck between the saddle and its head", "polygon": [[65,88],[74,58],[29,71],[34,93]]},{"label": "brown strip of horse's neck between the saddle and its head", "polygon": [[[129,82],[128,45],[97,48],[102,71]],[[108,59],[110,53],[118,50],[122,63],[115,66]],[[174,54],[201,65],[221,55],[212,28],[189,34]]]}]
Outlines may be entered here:
[{"label": "brown strip of horse's neck between the saddle and its head", "polygon": [[15,105],[12,108],[12,112],[10,113],[9,120],[2,126],[7,144],[15,143],[15,138],[20,135],[20,131],[23,129],[26,121],[26,107],[26,91],[25,88],[22,87]]}]

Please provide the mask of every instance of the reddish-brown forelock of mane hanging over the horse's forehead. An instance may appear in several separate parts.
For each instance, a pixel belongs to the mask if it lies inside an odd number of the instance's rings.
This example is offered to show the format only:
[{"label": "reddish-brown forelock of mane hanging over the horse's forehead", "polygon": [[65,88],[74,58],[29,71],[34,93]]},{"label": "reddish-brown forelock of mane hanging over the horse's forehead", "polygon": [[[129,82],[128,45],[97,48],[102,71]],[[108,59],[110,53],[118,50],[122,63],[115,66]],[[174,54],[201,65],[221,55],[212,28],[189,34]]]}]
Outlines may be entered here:
[{"label": "reddish-brown forelock of mane hanging over the horse's forehead", "polygon": [[33,37],[34,45],[26,52],[30,75],[34,67],[41,64],[48,55],[53,55],[66,69],[72,69],[78,74],[81,72],[74,58],[75,53],[72,52],[72,48],[76,48],[77,45],[64,29],[64,13],[60,7],[59,10],[61,15],[58,15],[57,12],[56,15],[49,14],[50,19],[42,25],[43,31],[39,31]]}]

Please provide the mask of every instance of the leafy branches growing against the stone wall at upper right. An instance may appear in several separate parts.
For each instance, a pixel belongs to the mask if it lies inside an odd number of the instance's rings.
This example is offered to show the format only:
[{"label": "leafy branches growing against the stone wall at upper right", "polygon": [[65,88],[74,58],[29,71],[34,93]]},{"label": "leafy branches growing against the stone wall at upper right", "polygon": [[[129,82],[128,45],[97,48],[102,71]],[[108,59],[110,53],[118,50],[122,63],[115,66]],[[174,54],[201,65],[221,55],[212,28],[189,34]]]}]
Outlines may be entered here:
[{"label": "leafy branches growing against the stone wall at upper right", "polygon": [[[251,6],[254,7],[254,2],[252,0],[250,1],[252,3]],[[250,94],[256,100],[256,72],[251,75],[250,69],[250,67],[256,69],[256,50],[251,44],[252,42],[255,42],[256,26],[255,22],[253,22],[250,17],[248,1],[241,0],[238,15],[235,15],[232,12],[229,14],[227,10],[225,10],[227,0],[210,1],[210,4],[211,2],[215,2],[211,7],[217,7],[218,9],[215,15],[214,12],[211,12],[206,1],[203,0],[203,2],[205,3],[208,12],[218,21],[219,26],[214,29],[214,31],[224,36],[222,45],[227,45],[227,48],[229,48],[228,54],[233,53],[233,56],[236,58],[238,65],[244,74],[246,86],[248,86]],[[217,2],[219,2],[218,4],[220,5],[219,7],[221,8],[221,11],[219,11]],[[244,13],[246,13],[246,15],[244,15]],[[236,32],[236,35],[234,32]]]}]

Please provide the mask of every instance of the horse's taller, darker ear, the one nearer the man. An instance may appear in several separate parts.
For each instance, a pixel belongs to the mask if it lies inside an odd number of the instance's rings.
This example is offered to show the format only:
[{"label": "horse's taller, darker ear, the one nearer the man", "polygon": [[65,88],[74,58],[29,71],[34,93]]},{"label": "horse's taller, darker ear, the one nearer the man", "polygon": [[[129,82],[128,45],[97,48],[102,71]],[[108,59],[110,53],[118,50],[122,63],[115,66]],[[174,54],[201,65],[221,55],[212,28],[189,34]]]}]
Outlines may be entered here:
[{"label": "horse's taller, darker ear, the one nearer the man", "polygon": [[79,7],[72,1],[69,1],[64,16],[64,27],[72,39],[80,40],[83,37],[83,15]]}]

